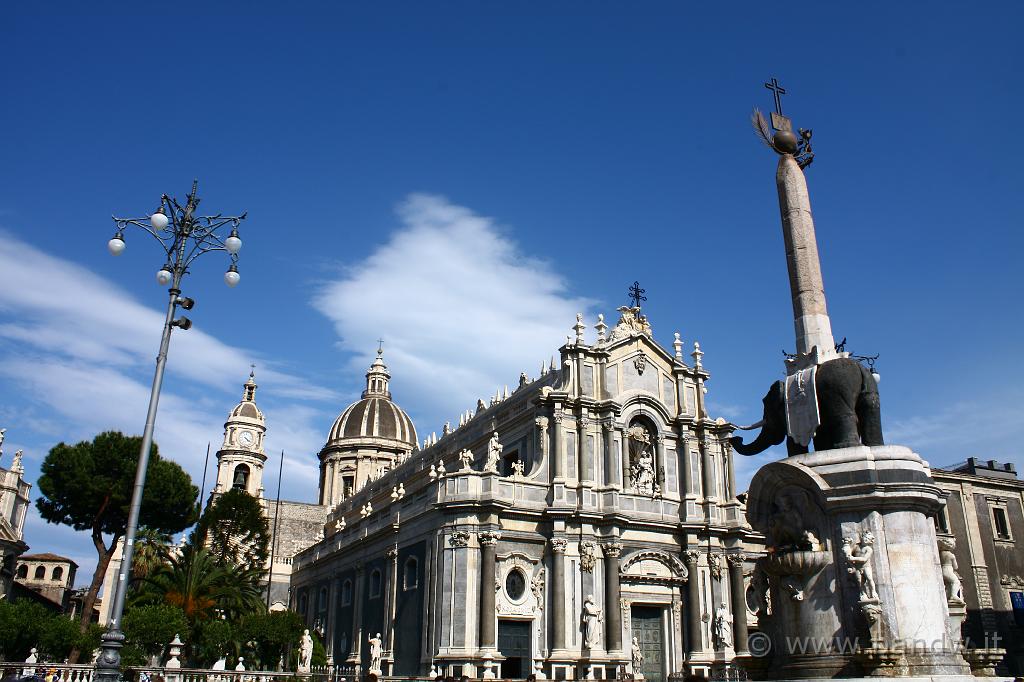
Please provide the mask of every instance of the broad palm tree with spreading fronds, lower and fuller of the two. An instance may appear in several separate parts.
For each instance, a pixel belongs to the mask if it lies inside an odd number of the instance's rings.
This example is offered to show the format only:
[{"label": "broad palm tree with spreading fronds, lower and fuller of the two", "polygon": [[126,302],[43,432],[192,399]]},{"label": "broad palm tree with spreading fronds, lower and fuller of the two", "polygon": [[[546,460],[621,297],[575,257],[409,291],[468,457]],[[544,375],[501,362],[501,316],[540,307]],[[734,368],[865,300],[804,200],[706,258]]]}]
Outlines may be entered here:
[{"label": "broad palm tree with spreading fronds, lower and fuller of the two", "polygon": [[205,547],[191,543],[180,551],[165,552],[164,558],[162,565],[140,581],[133,603],[177,606],[190,627],[264,610],[257,571],[219,563]]}]

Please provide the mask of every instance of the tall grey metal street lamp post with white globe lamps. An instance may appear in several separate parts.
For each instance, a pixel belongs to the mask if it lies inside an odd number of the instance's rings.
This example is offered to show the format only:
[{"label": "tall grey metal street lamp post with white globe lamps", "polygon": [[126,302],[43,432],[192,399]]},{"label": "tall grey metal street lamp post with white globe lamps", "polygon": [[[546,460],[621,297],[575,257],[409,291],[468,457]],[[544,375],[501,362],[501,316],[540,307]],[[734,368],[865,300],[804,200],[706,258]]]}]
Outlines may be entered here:
[{"label": "tall grey metal street lamp post with white globe lamps", "polygon": [[[157,272],[157,282],[163,286],[170,285],[167,290],[170,300],[167,303],[167,316],[164,319],[164,333],[160,339],[160,352],[157,354],[157,370],[153,375],[153,388],[150,392],[150,410],[145,416],[145,430],[142,432],[142,447],[138,453],[138,467],[135,470],[135,487],[132,489],[131,507],[128,510],[128,526],[125,529],[124,552],[121,566],[115,582],[113,602],[111,604],[111,620],[106,632],[103,633],[100,644],[99,658],[96,660],[97,682],[120,682],[121,680],[121,647],[124,646],[124,633],[121,632],[121,616],[124,613],[125,594],[128,591],[128,577],[131,574],[132,554],[134,553],[135,531],[138,527],[138,514],[142,507],[142,491],[145,487],[145,472],[150,465],[150,449],[153,445],[153,427],[157,421],[157,404],[160,402],[160,388],[164,383],[164,368],[167,365],[167,348],[171,343],[171,331],[176,327],[187,330],[191,321],[184,315],[175,318],[177,308],[190,310],[195,301],[181,296],[181,279],[188,271],[188,266],[205,253],[224,251],[230,257],[230,265],[224,272],[224,284],[234,287],[241,276],[237,266],[242,240],[239,238],[239,223],[246,218],[239,216],[198,216],[199,206],[197,186],[193,182],[191,193],[186,198],[185,205],[164,195],[160,198],[160,208],[151,216],[144,218],[114,217],[117,232],[106,244],[106,248],[115,256],[120,256],[125,250],[124,231],[129,225],[139,227],[152,235],[160,243],[167,256],[167,261]],[[217,230],[230,225],[231,231],[221,239]]]}]

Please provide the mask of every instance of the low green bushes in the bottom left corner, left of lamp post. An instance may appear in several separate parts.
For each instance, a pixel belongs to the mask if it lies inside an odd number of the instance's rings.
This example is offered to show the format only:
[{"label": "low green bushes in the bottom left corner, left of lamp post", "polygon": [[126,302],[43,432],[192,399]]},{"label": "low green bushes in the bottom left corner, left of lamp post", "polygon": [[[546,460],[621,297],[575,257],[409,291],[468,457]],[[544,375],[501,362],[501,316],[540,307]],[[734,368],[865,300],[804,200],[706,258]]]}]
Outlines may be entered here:
[{"label": "low green bushes in the bottom left corner, left of lamp post", "polygon": [[92,634],[34,601],[0,601],[0,653],[7,660],[25,660],[33,647],[40,660],[63,660],[72,649],[87,647]]}]

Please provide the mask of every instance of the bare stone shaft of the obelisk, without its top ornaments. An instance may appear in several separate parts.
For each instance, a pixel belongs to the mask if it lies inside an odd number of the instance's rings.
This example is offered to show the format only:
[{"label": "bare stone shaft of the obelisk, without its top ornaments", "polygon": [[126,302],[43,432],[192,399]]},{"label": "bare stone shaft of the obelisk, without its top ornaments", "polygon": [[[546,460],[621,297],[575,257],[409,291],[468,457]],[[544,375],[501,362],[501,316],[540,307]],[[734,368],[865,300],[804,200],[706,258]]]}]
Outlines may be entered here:
[{"label": "bare stone shaft of the obelisk, without its top ornaments", "polygon": [[810,353],[812,348],[817,347],[818,357],[825,360],[836,356],[836,342],[825,307],[825,286],[821,281],[821,262],[814,237],[807,179],[800,164],[791,155],[779,157],[775,184],[782,215],[785,263],[790,269],[797,352]]}]

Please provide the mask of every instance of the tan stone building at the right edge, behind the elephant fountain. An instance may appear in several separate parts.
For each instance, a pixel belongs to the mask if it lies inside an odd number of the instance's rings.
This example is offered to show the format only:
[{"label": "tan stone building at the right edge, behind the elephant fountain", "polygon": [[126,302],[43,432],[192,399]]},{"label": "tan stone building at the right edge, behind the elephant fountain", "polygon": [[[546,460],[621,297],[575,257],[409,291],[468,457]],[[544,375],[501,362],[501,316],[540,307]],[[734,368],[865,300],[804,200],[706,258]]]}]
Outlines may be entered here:
[{"label": "tan stone building at the right edge, behind the elephant fountain", "polygon": [[[1002,672],[1024,675],[1024,481],[1012,464],[969,459],[932,469],[945,494],[935,516],[940,542],[953,539],[950,597],[965,608],[969,647],[1005,648]],[[948,583],[948,581],[947,581]]]}]

